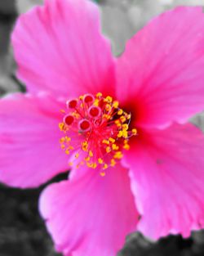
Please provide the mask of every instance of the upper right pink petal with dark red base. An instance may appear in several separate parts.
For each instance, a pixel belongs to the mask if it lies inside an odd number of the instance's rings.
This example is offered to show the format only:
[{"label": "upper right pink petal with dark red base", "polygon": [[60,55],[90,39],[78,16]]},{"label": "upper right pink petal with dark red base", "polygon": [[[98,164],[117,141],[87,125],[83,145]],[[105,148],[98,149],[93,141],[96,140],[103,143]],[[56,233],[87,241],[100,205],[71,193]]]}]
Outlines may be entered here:
[{"label": "upper right pink petal with dark red base", "polygon": [[182,123],[204,109],[202,7],[177,7],[153,19],[118,60],[118,99],[138,124]]}]

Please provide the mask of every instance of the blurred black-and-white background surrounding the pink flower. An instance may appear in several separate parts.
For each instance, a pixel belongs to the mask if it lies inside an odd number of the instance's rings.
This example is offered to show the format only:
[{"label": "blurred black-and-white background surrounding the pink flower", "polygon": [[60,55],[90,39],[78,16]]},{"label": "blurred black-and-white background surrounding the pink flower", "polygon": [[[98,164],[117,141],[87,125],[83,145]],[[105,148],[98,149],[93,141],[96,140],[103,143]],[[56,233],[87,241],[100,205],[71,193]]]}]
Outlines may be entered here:
[{"label": "blurred black-and-white background surrounding the pink flower", "polygon": [[[41,2],[42,0],[0,0],[1,96],[7,92],[24,90],[22,84],[16,80],[16,65],[10,46],[10,34],[17,16]],[[115,55],[122,53],[128,38],[162,11],[178,5],[204,6],[204,0],[98,0],[97,2],[102,11],[104,34],[112,39]],[[197,115],[193,118],[193,122],[204,130],[202,116]],[[51,238],[38,215],[38,195],[42,189],[43,187],[20,191],[0,184],[0,256],[60,255],[55,254]],[[180,236],[169,236],[156,243],[135,233],[127,237],[126,245],[118,255],[198,256],[203,254],[204,233],[199,231],[193,233],[188,240],[183,240]]]}]

